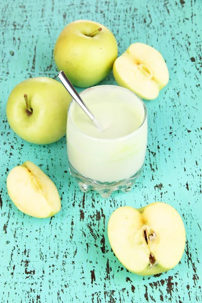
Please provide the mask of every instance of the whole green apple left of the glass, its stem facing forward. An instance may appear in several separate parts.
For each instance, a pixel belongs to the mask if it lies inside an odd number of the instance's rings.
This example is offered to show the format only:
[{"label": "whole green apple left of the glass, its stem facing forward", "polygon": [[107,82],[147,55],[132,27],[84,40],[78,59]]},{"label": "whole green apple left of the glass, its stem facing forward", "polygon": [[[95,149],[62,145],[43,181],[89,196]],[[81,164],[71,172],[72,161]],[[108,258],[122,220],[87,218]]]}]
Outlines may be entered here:
[{"label": "whole green apple left of the glass, its stem facing forward", "polygon": [[72,97],[58,81],[36,77],[19,83],[7,103],[11,128],[24,140],[53,143],[66,133],[67,110]]}]

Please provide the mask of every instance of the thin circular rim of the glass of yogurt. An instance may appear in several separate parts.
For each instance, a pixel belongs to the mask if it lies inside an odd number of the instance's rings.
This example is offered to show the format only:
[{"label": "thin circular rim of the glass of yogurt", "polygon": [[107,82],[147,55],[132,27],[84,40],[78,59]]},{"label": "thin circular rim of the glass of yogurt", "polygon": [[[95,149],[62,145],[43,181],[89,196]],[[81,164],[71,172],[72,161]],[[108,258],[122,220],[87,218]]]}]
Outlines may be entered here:
[{"label": "thin circular rim of the glass of yogurt", "polygon": [[[106,85],[96,85],[96,86],[88,87],[88,88],[82,90],[82,91],[79,93],[79,95],[82,95],[82,94],[86,93],[86,92],[87,92],[88,90],[90,90],[90,89],[96,89],[96,87],[113,87],[113,88],[115,88],[115,89],[117,89],[117,88],[118,88],[118,89],[123,89],[123,90],[127,90],[127,91],[129,91],[131,94],[135,95],[135,96],[139,99],[140,103],[141,103],[142,106],[143,106],[143,110],[144,110],[144,118],[143,118],[143,121],[142,121],[141,125],[140,125],[136,130],[134,130],[132,133],[130,133],[130,134],[128,134],[128,135],[125,135],[125,136],[120,136],[120,137],[117,137],[117,138],[96,138],[96,137],[92,137],[92,136],[87,135],[87,134],[86,134],[85,132],[83,132],[79,127],[77,127],[77,125],[76,125],[75,122],[74,122],[74,119],[71,117],[71,115],[69,115],[70,107],[72,106],[72,104],[73,104],[74,102],[76,103],[76,101],[75,101],[74,98],[73,98],[73,99],[71,100],[71,102],[70,102],[69,107],[68,107],[68,117],[67,117],[67,119],[70,119],[71,123],[72,123],[72,124],[74,125],[74,127],[78,130],[78,132],[81,133],[82,135],[84,135],[84,136],[90,138],[90,139],[94,139],[94,140],[98,140],[98,141],[100,141],[100,140],[102,140],[102,141],[121,140],[121,139],[125,139],[125,138],[128,138],[128,137],[134,135],[134,133],[137,133],[137,132],[139,131],[139,129],[144,125],[144,123],[145,123],[145,121],[146,121],[146,119],[147,119],[147,109],[146,109],[146,105],[145,105],[145,103],[143,102],[143,100],[142,100],[135,92],[133,92],[132,90],[130,90],[130,89],[128,89],[128,88],[125,88],[125,87],[122,87],[122,86],[118,86],[118,85],[110,85],[110,84],[106,84]],[[79,105],[78,105],[78,106],[79,106]]]}]

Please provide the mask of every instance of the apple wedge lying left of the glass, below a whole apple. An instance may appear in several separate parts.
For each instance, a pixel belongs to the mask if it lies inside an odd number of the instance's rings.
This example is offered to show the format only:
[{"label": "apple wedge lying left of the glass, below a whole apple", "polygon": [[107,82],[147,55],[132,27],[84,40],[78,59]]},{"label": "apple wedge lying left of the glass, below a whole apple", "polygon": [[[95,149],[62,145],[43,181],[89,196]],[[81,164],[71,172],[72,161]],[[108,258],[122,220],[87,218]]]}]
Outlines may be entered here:
[{"label": "apple wedge lying left of the glass, below a whole apple", "polygon": [[61,209],[56,185],[30,161],[10,171],[7,189],[15,206],[29,216],[47,218]]}]

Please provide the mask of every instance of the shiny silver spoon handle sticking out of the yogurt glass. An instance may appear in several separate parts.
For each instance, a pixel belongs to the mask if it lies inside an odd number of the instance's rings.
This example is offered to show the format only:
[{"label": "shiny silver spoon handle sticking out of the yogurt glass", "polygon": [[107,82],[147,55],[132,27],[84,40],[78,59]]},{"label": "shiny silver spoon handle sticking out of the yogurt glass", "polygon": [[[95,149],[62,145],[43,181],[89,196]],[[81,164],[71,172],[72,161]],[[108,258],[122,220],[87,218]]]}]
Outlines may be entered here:
[{"label": "shiny silver spoon handle sticking out of the yogurt glass", "polygon": [[93,121],[94,120],[93,114],[88,109],[88,107],[85,105],[85,103],[83,102],[80,95],[78,94],[78,92],[76,91],[76,89],[74,88],[72,83],[69,81],[69,79],[67,78],[65,73],[63,71],[61,71],[58,74],[58,77],[61,80],[61,82],[63,83],[63,85],[65,86],[65,88],[68,90],[68,92],[71,94],[73,99],[78,103],[78,105],[82,108],[82,110],[86,113],[86,115]]}]

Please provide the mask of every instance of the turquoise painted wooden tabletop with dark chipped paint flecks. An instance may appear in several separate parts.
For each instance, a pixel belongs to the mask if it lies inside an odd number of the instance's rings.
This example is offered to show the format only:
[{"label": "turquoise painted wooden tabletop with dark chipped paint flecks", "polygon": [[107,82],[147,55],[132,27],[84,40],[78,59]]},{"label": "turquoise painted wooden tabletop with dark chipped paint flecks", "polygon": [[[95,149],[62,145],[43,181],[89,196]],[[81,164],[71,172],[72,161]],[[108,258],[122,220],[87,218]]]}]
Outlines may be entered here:
[{"label": "turquoise painted wooden tabletop with dark chipped paint flecks", "polygon": [[[201,29],[199,0],[2,0],[0,302],[202,302],[201,296]],[[170,81],[146,101],[148,148],[143,175],[130,193],[103,199],[83,194],[68,173],[66,137],[50,145],[20,139],[9,127],[13,87],[35,76],[56,78],[53,48],[77,19],[94,20],[115,34],[119,55],[132,42],[157,48]],[[116,84],[111,73],[100,84]],[[79,90],[81,91],[81,89]],[[56,183],[62,210],[49,219],[24,215],[6,188],[8,172],[33,161]],[[186,248],[173,270],[150,277],[127,271],[107,236],[112,212],[164,201],[186,228]]]}]

